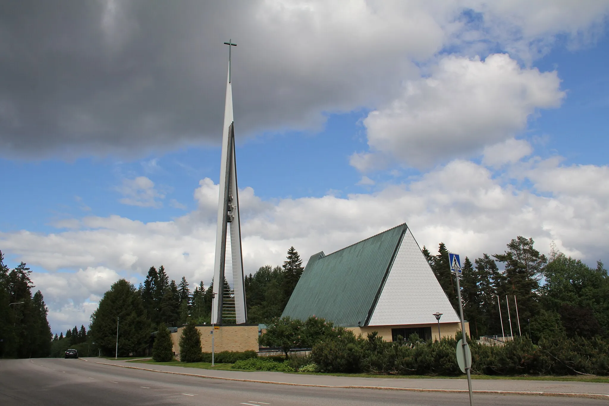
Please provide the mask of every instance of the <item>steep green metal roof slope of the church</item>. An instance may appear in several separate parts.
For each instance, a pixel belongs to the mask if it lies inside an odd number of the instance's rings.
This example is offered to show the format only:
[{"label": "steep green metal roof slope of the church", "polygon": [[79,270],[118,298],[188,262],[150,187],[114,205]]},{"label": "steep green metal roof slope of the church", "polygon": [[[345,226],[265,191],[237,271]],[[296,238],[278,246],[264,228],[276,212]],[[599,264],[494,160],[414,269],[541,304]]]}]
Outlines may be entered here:
[{"label": "steep green metal roof slope of the church", "polygon": [[315,315],[338,326],[365,326],[406,229],[401,224],[334,253],[312,255],[282,317]]}]

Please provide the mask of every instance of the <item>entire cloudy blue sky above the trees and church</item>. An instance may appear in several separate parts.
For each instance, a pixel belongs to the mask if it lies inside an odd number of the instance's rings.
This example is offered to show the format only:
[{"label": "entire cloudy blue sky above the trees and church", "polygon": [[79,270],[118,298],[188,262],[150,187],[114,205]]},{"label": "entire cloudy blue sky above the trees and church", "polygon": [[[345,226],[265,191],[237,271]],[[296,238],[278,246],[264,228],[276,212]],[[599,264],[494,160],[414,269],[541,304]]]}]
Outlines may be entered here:
[{"label": "entire cloudy blue sky above the trees and church", "polygon": [[211,282],[229,39],[246,273],[403,222],[609,262],[609,1],[0,7],[0,250],[53,332],[153,265]]}]

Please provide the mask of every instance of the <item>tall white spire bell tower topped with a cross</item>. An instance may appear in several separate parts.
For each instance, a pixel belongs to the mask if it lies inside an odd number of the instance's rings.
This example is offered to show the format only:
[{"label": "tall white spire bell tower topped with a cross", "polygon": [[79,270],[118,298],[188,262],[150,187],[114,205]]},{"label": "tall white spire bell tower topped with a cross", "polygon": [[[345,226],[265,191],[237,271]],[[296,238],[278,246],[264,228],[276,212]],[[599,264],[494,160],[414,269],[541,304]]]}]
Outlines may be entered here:
[{"label": "tall white spire bell tower topped with a cross", "polygon": [[[220,163],[220,195],[216,231],[216,259],[214,261],[214,300],[211,306],[211,323],[221,324],[222,318],[245,323],[245,287],[241,253],[241,222],[239,221],[239,191],[234,155],[233,90],[231,87],[231,40],[228,45],[227,95],[224,107],[222,132],[222,161]],[[230,278],[234,300],[225,292],[225,276]],[[228,281],[228,279],[227,279]],[[230,285],[230,283],[229,283]],[[234,302],[234,309],[233,309]]]}]

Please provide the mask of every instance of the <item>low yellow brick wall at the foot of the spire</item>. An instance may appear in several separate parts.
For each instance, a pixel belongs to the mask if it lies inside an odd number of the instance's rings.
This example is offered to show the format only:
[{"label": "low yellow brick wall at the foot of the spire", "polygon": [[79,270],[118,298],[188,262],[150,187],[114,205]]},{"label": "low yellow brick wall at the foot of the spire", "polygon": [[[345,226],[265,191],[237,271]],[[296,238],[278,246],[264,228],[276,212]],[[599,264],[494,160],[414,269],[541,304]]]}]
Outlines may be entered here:
[{"label": "low yellow brick wall at the foot of the spire", "polygon": [[[220,351],[258,351],[258,326],[216,326],[214,330],[214,352]],[[180,354],[180,336],[185,327],[180,327],[177,333],[171,335],[174,343],[174,353]],[[211,352],[211,325],[197,326],[201,333],[201,349]]]}]

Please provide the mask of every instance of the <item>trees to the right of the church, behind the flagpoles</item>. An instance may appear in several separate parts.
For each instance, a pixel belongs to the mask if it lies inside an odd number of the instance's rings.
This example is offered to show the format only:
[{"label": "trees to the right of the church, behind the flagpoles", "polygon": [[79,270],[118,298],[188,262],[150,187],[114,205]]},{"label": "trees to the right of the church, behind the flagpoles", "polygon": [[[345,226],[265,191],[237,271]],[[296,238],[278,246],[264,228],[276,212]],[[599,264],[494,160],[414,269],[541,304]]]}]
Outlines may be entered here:
[{"label": "trees to the right of the church, behind the flagpoles", "polygon": [[[588,267],[565,256],[555,245],[548,259],[533,248],[533,243],[533,239],[519,236],[503,253],[483,254],[474,262],[465,257],[460,284],[471,335],[502,334],[501,306],[506,335],[510,334],[511,319],[513,334],[529,335],[535,343],[543,335],[557,333],[609,337],[609,278],[602,262],[598,261],[596,268]],[[423,247],[423,254],[452,306],[458,309],[446,245],[440,243],[435,255]]]}]

